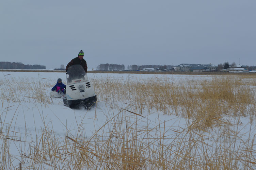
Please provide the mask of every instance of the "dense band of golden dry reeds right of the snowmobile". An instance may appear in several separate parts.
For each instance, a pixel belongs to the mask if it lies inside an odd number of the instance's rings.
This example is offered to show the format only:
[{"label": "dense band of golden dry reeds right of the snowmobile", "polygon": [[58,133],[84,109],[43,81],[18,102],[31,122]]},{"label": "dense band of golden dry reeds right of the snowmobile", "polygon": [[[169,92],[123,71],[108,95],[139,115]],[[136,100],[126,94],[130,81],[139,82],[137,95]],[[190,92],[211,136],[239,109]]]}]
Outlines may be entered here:
[{"label": "dense band of golden dry reeds right of the snowmobile", "polygon": [[188,118],[200,118],[208,127],[221,115],[255,117],[255,78],[213,76],[202,79],[172,80],[94,80],[96,92],[113,107],[122,102],[135,113],[161,112]]}]

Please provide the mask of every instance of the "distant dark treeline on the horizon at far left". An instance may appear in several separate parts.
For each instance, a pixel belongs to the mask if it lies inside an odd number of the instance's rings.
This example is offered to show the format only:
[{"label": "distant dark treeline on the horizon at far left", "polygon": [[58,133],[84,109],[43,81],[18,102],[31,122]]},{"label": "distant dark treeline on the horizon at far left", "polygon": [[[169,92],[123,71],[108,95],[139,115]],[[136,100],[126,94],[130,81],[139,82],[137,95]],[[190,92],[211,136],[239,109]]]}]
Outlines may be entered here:
[{"label": "distant dark treeline on the horizon at far left", "polygon": [[11,62],[0,62],[0,69],[46,69],[46,66],[43,65],[25,65],[22,63],[11,63]]}]

